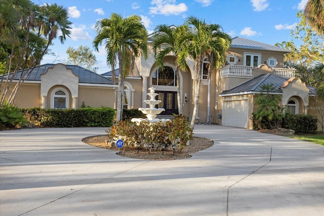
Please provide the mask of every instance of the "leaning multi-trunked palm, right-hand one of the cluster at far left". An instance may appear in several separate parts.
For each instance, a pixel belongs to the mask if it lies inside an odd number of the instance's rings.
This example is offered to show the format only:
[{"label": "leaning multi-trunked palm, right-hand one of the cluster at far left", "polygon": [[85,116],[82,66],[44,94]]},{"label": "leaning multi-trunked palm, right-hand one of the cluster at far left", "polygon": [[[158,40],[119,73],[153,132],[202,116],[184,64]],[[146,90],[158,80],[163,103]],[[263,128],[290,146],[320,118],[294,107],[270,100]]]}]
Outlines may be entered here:
[{"label": "leaning multi-trunked palm, right-hand one of the cluster at far left", "polygon": [[[19,15],[17,23],[20,26],[12,32],[15,41],[11,43],[12,52],[9,62],[10,64],[15,62],[15,66],[13,72],[11,71],[12,65],[9,64],[7,67],[8,76],[1,95],[0,106],[3,105],[18,70],[22,70],[22,73],[8,97],[9,104],[14,103],[21,84],[34,67],[39,65],[43,56],[48,52],[49,46],[52,45],[52,41],[59,36],[63,43],[66,36],[70,34],[71,22],[67,20],[67,10],[62,6],[47,4],[38,7],[29,0],[23,0],[12,2],[11,7],[15,8]],[[9,76],[10,72],[12,72],[11,76]]]}]

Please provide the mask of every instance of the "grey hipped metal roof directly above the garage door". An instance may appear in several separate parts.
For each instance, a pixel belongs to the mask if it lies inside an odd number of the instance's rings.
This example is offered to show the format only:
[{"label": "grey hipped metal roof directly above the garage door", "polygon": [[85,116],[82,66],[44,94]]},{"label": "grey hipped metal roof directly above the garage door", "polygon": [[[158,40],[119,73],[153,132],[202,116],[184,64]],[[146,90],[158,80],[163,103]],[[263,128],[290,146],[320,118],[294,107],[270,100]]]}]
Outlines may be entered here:
[{"label": "grey hipped metal roof directly above the garage door", "polygon": [[[288,79],[272,75],[271,73],[268,74],[261,74],[253,79],[250,79],[237,87],[228,90],[226,92],[222,92],[220,96],[232,96],[232,95],[248,95],[248,94],[259,94],[262,91],[261,86],[264,84],[270,84],[272,83],[274,86],[273,94],[282,94],[282,85],[284,85],[284,82],[288,81]],[[306,87],[309,89],[309,94],[314,95],[315,94],[315,88],[311,87],[310,85],[306,85]]]}]

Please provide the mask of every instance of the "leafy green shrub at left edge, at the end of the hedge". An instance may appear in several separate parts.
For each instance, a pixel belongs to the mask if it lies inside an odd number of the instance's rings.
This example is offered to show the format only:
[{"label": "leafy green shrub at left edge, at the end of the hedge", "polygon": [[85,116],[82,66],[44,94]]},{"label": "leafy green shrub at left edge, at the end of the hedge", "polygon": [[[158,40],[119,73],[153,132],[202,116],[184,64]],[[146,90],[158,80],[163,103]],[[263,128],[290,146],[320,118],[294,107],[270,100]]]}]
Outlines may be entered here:
[{"label": "leafy green shrub at left edge, at the end of the hedge", "polygon": [[14,105],[4,103],[0,108],[0,126],[6,128],[13,128],[16,125],[23,125],[27,123],[20,109]]}]

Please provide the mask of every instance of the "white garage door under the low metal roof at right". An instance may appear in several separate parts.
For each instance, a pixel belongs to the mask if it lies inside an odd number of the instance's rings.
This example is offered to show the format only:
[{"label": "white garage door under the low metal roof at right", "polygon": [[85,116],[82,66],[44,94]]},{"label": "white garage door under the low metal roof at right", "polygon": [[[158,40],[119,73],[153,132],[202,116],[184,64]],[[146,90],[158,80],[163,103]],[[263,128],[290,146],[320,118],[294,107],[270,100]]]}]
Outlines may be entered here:
[{"label": "white garage door under the low metal roof at right", "polygon": [[248,111],[248,100],[224,101],[222,124],[248,128]]}]

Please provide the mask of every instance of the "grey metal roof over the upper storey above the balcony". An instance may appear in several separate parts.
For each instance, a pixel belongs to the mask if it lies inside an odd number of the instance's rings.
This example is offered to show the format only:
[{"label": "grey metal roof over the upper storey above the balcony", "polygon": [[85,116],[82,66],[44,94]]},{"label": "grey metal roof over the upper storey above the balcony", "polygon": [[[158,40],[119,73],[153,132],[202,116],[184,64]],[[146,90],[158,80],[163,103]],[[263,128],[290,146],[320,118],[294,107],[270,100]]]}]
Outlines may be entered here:
[{"label": "grey metal roof over the upper storey above the balcony", "polygon": [[255,40],[250,40],[242,37],[234,37],[232,39],[231,48],[242,48],[242,49],[252,49],[252,50],[267,50],[267,51],[278,51],[284,53],[290,53],[290,50],[265,44],[263,42],[258,42]]}]

